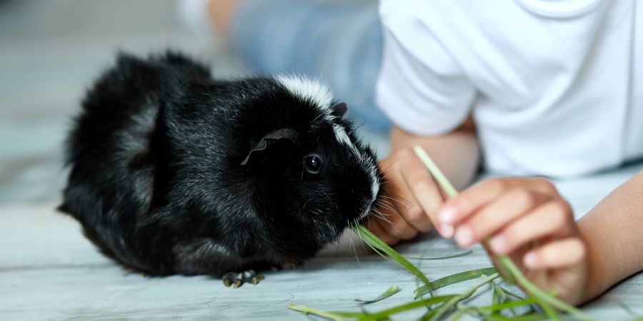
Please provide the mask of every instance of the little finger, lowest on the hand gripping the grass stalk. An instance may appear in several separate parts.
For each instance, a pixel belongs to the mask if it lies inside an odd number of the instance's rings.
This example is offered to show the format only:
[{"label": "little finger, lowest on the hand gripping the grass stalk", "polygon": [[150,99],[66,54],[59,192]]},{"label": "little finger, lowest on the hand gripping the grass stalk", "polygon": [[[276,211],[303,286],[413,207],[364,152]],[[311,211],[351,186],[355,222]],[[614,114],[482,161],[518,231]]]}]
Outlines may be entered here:
[{"label": "little finger, lowest on the hand gripping the grass stalk", "polygon": [[530,250],[522,258],[532,270],[560,268],[574,265],[585,258],[585,246],[579,238],[556,240]]}]

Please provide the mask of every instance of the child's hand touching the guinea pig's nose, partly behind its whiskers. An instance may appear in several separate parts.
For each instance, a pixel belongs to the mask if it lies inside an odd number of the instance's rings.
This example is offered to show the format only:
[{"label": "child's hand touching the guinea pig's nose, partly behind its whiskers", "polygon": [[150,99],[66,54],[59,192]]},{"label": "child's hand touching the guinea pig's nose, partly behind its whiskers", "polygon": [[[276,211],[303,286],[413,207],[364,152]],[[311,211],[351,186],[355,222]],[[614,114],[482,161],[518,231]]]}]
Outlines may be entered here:
[{"label": "child's hand touching the guinea pig's nose, partly behind its whiskers", "polygon": [[364,226],[389,245],[429,230],[444,198],[422,161],[411,148],[404,148],[381,161],[379,168],[388,193]]}]

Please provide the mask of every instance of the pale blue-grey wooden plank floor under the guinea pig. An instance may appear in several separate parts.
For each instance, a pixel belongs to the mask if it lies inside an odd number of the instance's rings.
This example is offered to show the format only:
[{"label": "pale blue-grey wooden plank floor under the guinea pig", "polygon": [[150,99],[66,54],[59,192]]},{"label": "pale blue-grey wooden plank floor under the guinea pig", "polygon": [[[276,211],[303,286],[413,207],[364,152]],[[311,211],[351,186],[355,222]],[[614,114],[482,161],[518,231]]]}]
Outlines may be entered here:
[{"label": "pale blue-grey wooden plank floor under the guinea pig", "polygon": [[[357,311],[354,299],[375,297],[392,284],[402,292],[369,309],[409,300],[414,278],[350,235],[304,267],[267,272],[259,285],[232,289],[205,276],[124,275],[74,220],[54,211],[66,175],[61,143],[84,88],[116,49],[166,46],[208,59],[218,51],[179,26],[172,1],[0,1],[0,320],[306,320],[287,306]],[[217,57],[217,73],[242,71],[234,56]],[[557,185],[580,215],[641,168]],[[398,250],[409,256],[461,251],[430,233]],[[424,261],[422,270],[435,279],[488,266],[484,251],[474,248],[464,257]],[[489,302],[489,292],[477,300]],[[584,310],[599,320],[643,315],[643,275]]]}]

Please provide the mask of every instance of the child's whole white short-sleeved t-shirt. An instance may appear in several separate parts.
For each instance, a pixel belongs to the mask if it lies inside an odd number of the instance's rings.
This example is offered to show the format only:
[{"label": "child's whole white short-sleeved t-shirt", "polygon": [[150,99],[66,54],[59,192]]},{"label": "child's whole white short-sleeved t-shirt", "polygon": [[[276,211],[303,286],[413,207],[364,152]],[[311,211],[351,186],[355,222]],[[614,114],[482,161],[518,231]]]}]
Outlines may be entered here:
[{"label": "child's whole white short-sleeved t-shirt", "polygon": [[494,173],[643,157],[643,1],[382,0],[380,15],[377,103],[404,130],[436,136],[472,113]]}]

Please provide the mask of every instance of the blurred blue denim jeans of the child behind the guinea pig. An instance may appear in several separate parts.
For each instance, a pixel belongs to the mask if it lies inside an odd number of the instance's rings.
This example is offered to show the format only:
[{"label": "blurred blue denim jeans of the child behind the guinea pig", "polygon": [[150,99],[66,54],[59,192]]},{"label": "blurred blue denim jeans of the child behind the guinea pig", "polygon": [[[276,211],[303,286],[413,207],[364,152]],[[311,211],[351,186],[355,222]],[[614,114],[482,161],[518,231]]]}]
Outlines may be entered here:
[{"label": "blurred blue denim jeans of the child behind the guinea pig", "polygon": [[377,1],[241,0],[228,39],[255,71],[320,78],[358,125],[389,129],[374,103],[382,61]]}]

